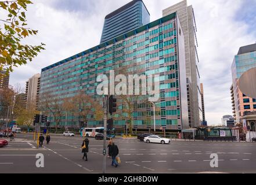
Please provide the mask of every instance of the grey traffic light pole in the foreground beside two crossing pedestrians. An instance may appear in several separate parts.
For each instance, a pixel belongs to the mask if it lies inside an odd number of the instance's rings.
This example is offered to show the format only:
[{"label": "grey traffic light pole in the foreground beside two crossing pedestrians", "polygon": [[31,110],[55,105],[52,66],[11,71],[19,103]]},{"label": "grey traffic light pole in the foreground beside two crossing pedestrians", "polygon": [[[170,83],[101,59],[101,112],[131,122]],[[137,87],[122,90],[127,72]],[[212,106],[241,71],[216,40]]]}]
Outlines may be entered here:
[{"label": "grey traffic light pole in the foreground beside two crossing pedestrians", "polygon": [[103,100],[103,109],[104,109],[104,140],[103,140],[103,173],[106,173],[106,141],[107,141],[107,105],[109,98],[108,96],[104,97]]}]

